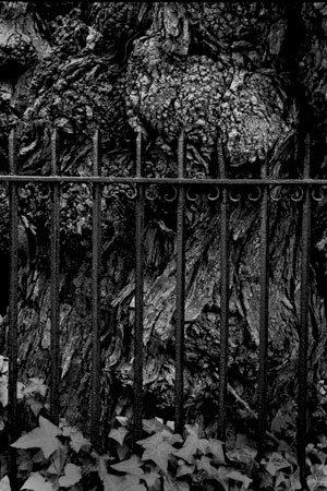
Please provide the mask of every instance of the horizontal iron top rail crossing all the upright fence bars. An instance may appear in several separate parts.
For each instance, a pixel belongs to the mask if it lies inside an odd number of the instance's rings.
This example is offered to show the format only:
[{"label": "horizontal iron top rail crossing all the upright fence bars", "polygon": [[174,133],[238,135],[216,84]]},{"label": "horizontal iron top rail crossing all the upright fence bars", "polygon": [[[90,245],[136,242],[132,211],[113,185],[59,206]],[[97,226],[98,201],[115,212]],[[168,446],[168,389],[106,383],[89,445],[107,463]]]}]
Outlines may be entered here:
[{"label": "horizontal iron top rail crossing all the upright fence bars", "polygon": [[327,179],[193,179],[193,178],[147,178],[147,177],[106,177],[106,176],[11,176],[0,175],[0,182],[75,182],[102,184],[167,184],[167,185],[326,185]]}]

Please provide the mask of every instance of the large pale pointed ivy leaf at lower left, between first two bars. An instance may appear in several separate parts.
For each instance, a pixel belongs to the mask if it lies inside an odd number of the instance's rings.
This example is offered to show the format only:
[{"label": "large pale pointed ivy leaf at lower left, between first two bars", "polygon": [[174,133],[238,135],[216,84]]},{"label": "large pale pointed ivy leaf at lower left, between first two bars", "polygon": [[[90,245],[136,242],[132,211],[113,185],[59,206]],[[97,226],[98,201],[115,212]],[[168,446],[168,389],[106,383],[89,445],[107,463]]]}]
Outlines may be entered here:
[{"label": "large pale pointed ivy leaf at lower left, between first two bars", "polygon": [[11,446],[15,448],[41,448],[46,458],[50,457],[57,448],[61,447],[56,438],[61,430],[43,416],[39,417],[39,427],[21,436]]}]

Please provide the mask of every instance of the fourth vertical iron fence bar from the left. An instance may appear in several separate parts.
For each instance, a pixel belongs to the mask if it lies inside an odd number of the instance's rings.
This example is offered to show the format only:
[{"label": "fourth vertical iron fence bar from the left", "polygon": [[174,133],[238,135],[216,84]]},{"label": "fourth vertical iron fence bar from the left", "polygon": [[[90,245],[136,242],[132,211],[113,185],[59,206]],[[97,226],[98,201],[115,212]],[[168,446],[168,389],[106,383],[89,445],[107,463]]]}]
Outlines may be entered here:
[{"label": "fourth vertical iron fence bar from the left", "polygon": [[[136,139],[136,177],[142,177],[142,133]],[[137,184],[135,207],[135,342],[134,342],[134,441],[142,435],[143,415],[143,232],[144,185]]]}]

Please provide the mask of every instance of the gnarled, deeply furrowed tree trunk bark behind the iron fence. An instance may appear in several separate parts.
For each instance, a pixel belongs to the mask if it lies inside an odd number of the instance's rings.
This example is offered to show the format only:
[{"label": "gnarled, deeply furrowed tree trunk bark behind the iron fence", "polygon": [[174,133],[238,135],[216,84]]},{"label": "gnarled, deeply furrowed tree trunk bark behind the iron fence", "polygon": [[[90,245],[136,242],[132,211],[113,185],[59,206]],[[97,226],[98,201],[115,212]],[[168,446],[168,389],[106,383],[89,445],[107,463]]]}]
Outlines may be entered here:
[{"label": "gnarled, deeply furrowed tree trunk bark behind the iron fence", "polygon": [[[0,156],[19,132],[21,173],[50,172],[50,129],[60,133],[60,171],[92,173],[92,136],[102,130],[102,173],[135,172],[135,130],[146,176],[177,172],[186,135],[186,175],[217,177],[220,137],[230,177],[302,175],[312,134],[312,176],[326,178],[326,2],[1,2]],[[102,433],[131,412],[134,321],[134,204],[121,188],[102,200]],[[175,204],[169,190],[146,201],[145,411],[173,418]],[[228,419],[252,433],[257,406],[259,206],[230,203]],[[294,438],[300,318],[301,207],[282,191],[269,202],[270,430]],[[20,192],[20,379],[49,376],[50,285],[47,187]],[[61,193],[61,412],[88,421],[90,393],[92,195]],[[219,204],[186,209],[185,410],[215,428],[220,349]],[[0,262],[8,263],[8,203],[1,201]],[[314,203],[310,287],[310,430],[325,431],[326,197]],[[1,354],[7,313],[2,312]],[[327,383],[327,382],[326,382]],[[239,398],[234,397],[234,394]],[[283,415],[289,417],[286,419]],[[282,421],[288,421],[282,423]]]}]

